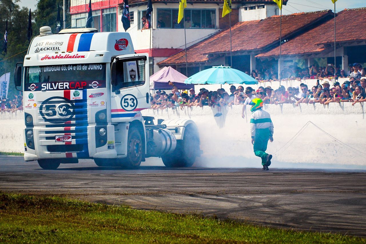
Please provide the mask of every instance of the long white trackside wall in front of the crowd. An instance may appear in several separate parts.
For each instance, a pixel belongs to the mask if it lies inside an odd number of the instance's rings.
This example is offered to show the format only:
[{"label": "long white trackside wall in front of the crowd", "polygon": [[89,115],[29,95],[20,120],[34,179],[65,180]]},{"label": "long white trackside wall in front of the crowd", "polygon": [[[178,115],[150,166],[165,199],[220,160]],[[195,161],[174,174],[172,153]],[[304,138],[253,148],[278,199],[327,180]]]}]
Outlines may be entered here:
[{"label": "long white trackside wall in front of the crowd", "polygon": [[[203,151],[196,166],[260,167],[250,143],[249,108],[245,119],[239,105],[222,108],[221,117],[213,117],[216,108],[210,107],[143,110],[142,114],[192,119]],[[364,104],[266,104],[264,109],[275,125],[275,141],[268,143],[267,150],[274,154],[273,167],[366,169]],[[23,151],[23,123],[23,113],[0,114],[0,151]]]}]

